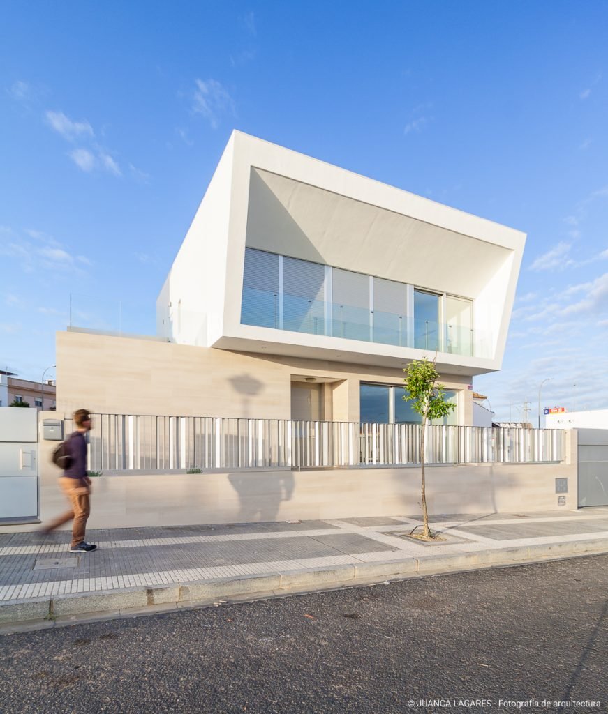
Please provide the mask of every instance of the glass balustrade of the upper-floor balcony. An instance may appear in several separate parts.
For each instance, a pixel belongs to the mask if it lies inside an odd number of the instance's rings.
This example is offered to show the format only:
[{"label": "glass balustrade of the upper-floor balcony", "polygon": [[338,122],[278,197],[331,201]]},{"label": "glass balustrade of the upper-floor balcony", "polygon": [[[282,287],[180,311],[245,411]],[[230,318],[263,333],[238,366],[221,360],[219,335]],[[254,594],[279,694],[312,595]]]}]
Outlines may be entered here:
[{"label": "glass balustrade of the upper-floor balcony", "polygon": [[246,286],[241,324],[465,357],[491,356],[490,336],[479,330]]}]

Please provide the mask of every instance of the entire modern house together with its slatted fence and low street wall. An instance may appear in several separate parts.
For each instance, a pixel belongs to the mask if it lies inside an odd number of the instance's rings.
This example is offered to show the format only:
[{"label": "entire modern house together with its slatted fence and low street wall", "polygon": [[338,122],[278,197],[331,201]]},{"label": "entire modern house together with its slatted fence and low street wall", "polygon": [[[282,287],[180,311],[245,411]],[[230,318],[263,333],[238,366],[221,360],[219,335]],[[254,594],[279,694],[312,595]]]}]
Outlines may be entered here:
[{"label": "entire modern house together with its slatted fence and low street wall", "polygon": [[101,526],[416,513],[403,369],[424,357],[457,405],[424,442],[442,465],[431,512],[572,505],[555,489],[576,478],[574,433],[474,428],[472,380],[501,367],[524,241],[235,131],[168,266],[156,336],[57,333],[40,517],[60,507],[49,454],[78,408],[94,415]]}]

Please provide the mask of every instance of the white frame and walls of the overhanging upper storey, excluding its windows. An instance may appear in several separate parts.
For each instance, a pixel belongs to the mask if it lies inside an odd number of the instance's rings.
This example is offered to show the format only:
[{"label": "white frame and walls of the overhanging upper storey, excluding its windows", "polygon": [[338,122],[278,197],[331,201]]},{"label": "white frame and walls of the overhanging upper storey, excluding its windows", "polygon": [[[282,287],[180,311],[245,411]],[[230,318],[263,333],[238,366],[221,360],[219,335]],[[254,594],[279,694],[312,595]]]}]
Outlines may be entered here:
[{"label": "white frame and walls of the overhanging upper storey, excluding its windows", "polygon": [[[417,288],[429,291],[443,298],[442,306],[445,296],[465,298],[483,349],[470,355],[439,350],[439,371],[495,371],[524,241],[512,228],[235,131],[159,295],[159,335],[189,345],[384,367],[402,367],[424,352],[434,357],[434,350],[347,339],[327,328],[319,334],[243,324],[249,248],[360,273],[370,286],[372,278],[400,283],[409,296]],[[411,321],[408,302],[404,319]]]}]

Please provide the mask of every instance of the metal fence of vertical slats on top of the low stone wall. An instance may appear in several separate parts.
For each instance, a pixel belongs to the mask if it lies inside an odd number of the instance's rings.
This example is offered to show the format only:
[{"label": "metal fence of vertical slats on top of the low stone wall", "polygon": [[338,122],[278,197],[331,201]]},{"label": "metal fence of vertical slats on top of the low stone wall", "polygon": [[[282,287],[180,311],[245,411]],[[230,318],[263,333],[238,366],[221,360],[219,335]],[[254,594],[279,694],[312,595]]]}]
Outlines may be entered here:
[{"label": "metal fence of vertical slats on top of the low stone wall", "polygon": [[[154,471],[199,468],[404,466],[419,463],[421,427],[341,421],[95,414],[89,468]],[[66,428],[71,426],[66,420]],[[559,429],[427,426],[432,464],[564,460]]]}]

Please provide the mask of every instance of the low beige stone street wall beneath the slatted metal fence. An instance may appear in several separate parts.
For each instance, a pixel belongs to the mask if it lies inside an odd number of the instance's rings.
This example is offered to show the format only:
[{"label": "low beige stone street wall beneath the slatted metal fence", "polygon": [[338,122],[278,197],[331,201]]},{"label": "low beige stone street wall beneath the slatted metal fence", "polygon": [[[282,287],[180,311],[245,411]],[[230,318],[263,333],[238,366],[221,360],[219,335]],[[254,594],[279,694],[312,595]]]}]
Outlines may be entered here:
[{"label": "low beige stone street wall beneath the slatted metal fence", "polygon": [[[429,513],[520,513],[575,510],[576,461],[427,468]],[[65,511],[57,470],[41,475],[41,521]],[[555,478],[568,478],[557,506]],[[124,473],[93,481],[88,528],[196,523],[419,516],[420,469],[349,468],[231,473]],[[0,533],[33,531],[1,526]],[[71,526],[66,526],[70,528]]]}]

